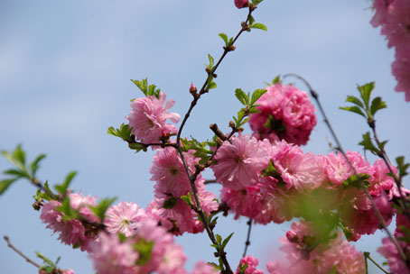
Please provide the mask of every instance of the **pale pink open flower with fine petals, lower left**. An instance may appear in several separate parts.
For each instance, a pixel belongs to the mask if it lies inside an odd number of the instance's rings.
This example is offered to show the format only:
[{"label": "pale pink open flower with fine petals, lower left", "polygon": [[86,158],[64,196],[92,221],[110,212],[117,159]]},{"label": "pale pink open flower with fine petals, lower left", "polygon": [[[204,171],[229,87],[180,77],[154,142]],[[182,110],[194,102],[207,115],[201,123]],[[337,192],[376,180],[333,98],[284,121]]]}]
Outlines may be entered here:
[{"label": "pale pink open flower with fine petals, lower left", "polygon": [[108,208],[104,224],[109,233],[135,234],[136,222],[145,217],[144,209],[135,203],[121,202]]}]

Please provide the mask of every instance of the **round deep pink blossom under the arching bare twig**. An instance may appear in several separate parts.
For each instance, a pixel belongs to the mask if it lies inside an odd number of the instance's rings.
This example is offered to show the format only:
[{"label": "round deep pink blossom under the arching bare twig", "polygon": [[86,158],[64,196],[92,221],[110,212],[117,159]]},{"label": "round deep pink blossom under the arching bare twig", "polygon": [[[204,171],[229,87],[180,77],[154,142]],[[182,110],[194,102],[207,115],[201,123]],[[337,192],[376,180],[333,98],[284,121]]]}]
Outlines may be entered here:
[{"label": "round deep pink blossom under the arching bare twig", "polygon": [[249,125],[258,140],[284,140],[304,145],[316,125],[314,106],[306,92],[276,83],[256,104],[259,113],[251,114]]}]

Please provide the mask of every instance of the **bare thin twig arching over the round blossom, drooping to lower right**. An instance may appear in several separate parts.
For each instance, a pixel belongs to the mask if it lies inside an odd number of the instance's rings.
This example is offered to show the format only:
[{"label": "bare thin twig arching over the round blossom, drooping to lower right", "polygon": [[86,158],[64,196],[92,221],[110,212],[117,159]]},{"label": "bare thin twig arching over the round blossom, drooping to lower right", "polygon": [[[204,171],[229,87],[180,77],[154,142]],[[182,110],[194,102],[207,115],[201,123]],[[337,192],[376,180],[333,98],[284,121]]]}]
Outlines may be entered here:
[{"label": "bare thin twig arching over the round blossom, drooping to lower right", "polygon": [[[336,132],[333,131],[333,128],[332,128],[332,126],[331,126],[331,123],[329,122],[329,119],[328,119],[327,115],[325,114],[323,107],[321,106],[321,101],[319,100],[319,95],[318,95],[318,93],[312,88],[312,86],[309,84],[309,82],[306,81],[303,77],[301,77],[301,76],[299,76],[299,75],[297,75],[297,74],[294,74],[294,73],[289,73],[289,74],[284,75],[284,78],[289,77],[289,76],[292,76],[292,77],[295,77],[295,78],[300,79],[300,80],[303,81],[303,83],[309,88],[309,91],[310,91],[312,97],[314,98],[314,100],[316,101],[317,105],[319,106],[319,109],[320,109],[320,111],[321,111],[321,115],[323,116],[324,123],[326,123],[326,125],[328,126],[329,130],[331,131],[331,135],[332,135],[333,139],[335,140],[335,142],[336,142],[337,145],[338,145],[338,147],[337,147],[336,149],[337,149],[338,151],[340,151],[340,153],[342,153],[342,155],[343,155],[343,157],[345,158],[345,160],[347,160],[347,162],[348,162],[348,164],[349,164],[349,166],[350,166],[350,169],[352,169],[353,172],[354,172],[354,174],[357,175],[358,173],[356,172],[356,169],[353,167],[352,163],[351,163],[350,160],[348,159],[348,157],[347,157],[347,155],[346,155],[346,152],[343,150],[343,148],[342,148],[342,146],[341,146],[341,143],[340,143],[340,141],[339,141],[339,138],[338,138],[338,136],[336,135]],[[373,200],[373,197],[370,196],[370,194],[368,193],[368,189],[367,189],[366,187],[363,186],[363,190],[364,190],[366,196],[368,197],[368,200],[370,201],[373,210],[375,211],[375,213],[376,213],[376,215],[377,215],[377,219],[378,219],[379,224],[380,224],[380,225],[383,227],[383,229],[386,231],[388,237],[390,238],[390,241],[393,242],[393,244],[396,246],[396,250],[398,251],[398,254],[400,255],[400,258],[401,258],[402,260],[404,260],[405,263],[406,263],[406,262],[407,262],[407,258],[406,258],[406,256],[405,256],[405,252],[400,248],[400,246],[398,245],[398,243],[397,243],[397,241],[396,241],[396,238],[393,237],[392,233],[390,233],[390,231],[388,230],[387,224],[386,224],[385,220],[383,219],[383,216],[380,214],[380,211],[378,210],[378,208],[377,208],[377,206],[376,206],[376,204],[375,204],[375,202],[374,202],[374,200]]]}]

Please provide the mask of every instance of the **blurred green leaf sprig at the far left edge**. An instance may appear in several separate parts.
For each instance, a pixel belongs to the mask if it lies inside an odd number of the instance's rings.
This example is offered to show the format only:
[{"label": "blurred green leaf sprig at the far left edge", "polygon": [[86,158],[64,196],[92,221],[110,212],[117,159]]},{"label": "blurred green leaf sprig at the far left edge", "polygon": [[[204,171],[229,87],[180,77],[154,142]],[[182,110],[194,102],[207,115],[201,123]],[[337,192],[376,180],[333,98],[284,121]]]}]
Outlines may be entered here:
[{"label": "blurred green leaf sprig at the far left edge", "polygon": [[25,152],[22,146],[18,144],[14,151],[1,151],[1,154],[14,165],[15,169],[6,169],[3,174],[11,177],[0,180],[0,195],[5,193],[8,187],[10,187],[19,178],[27,178],[29,180],[35,180],[35,174],[40,168],[40,162],[45,158],[45,154],[38,155],[31,163],[26,164]]}]

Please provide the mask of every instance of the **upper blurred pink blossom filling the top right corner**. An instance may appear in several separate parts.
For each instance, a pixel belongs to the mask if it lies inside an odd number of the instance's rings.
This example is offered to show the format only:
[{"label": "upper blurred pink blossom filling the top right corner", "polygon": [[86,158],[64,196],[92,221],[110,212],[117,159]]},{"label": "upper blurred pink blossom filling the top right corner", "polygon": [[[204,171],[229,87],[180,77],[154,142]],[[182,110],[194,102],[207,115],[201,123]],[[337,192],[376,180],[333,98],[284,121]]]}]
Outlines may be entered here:
[{"label": "upper blurred pink blossom filling the top right corner", "polygon": [[387,36],[389,48],[410,45],[410,1],[395,0],[388,5],[381,33]]}]

